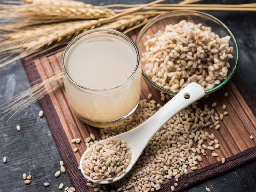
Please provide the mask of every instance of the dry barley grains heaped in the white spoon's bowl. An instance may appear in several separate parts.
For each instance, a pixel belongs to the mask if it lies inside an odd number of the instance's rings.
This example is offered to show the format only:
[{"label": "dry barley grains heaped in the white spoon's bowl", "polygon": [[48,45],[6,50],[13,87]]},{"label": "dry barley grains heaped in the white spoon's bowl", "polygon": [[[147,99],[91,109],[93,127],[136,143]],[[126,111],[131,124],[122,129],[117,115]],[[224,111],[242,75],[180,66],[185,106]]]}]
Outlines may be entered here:
[{"label": "dry barley grains heaped in the white spoon's bowl", "polygon": [[112,181],[120,176],[130,164],[131,151],[125,141],[108,140],[104,143],[95,143],[82,163],[83,172],[96,182]]}]

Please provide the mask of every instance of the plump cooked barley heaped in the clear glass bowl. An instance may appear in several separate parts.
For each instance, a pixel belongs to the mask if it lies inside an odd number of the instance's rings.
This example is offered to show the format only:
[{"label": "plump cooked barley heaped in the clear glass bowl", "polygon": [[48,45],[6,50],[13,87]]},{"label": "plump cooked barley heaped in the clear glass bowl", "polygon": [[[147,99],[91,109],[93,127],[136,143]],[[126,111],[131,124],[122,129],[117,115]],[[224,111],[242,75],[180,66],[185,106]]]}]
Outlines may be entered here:
[{"label": "plump cooked barley heaped in the clear glass bowl", "polygon": [[157,85],[179,92],[190,82],[212,89],[227,78],[233,47],[211,27],[185,20],[167,25],[144,43],[144,71]]}]

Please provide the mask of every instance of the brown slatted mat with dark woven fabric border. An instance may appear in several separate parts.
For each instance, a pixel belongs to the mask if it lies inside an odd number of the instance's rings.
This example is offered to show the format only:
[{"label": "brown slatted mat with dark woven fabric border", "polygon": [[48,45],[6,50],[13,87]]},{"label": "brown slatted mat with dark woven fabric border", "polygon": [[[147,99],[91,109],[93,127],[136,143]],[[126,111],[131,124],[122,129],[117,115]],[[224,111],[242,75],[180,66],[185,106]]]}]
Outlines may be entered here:
[{"label": "brown slatted mat with dark woven fabric border", "polygon": [[[41,82],[39,79],[46,79],[62,71],[62,51],[30,57],[23,60],[23,65],[32,85],[37,84]],[[228,97],[223,97],[224,92],[228,92]],[[160,92],[143,79],[141,99],[146,98],[149,93],[153,94],[153,99],[158,103],[164,104],[160,99]],[[86,181],[78,169],[78,162],[86,149],[84,140],[90,133],[93,133],[96,139],[100,139],[99,129],[84,124],[75,116],[63,88],[49,93],[39,102],[72,185],[78,192],[93,191],[86,186]],[[223,113],[221,107],[226,104],[229,114],[221,121],[219,130],[207,129],[207,132],[213,133],[219,140],[220,148],[217,149],[219,156],[212,157],[211,152],[207,151],[207,155],[202,156],[203,161],[199,163],[198,170],[190,171],[188,175],[179,178],[178,187],[175,188],[177,191],[256,159],[256,140],[250,139],[250,135],[256,138],[256,100],[246,89],[238,73],[226,86],[212,93],[209,98],[200,100],[200,104],[208,104],[208,106],[213,102],[218,103],[216,106],[218,113]],[[81,138],[82,142],[71,144],[73,138]],[[76,153],[72,151],[75,147],[79,149]],[[222,157],[226,158],[225,164],[220,162]],[[174,180],[171,180],[163,184],[160,191],[169,192],[173,183]],[[134,190],[130,189],[130,191]]]}]

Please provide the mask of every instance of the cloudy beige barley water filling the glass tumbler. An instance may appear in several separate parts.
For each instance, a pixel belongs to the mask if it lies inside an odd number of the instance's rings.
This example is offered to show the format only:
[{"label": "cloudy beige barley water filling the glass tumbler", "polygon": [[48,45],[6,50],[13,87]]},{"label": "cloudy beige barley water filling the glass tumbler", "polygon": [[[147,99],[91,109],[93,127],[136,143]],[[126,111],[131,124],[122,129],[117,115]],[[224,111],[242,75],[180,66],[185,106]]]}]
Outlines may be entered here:
[{"label": "cloudy beige barley water filling the glass tumbler", "polygon": [[68,50],[65,64],[70,78],[80,86],[64,78],[70,103],[82,119],[110,122],[136,107],[141,92],[141,70],[140,66],[135,70],[134,47],[122,37],[85,36]]}]

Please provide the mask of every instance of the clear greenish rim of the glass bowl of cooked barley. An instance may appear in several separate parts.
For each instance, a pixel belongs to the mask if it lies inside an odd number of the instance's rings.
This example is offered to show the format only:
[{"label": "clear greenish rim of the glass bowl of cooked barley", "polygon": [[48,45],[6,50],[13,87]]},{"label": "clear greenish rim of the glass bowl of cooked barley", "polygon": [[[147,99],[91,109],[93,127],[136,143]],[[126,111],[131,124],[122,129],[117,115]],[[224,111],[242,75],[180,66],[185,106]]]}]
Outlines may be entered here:
[{"label": "clear greenish rim of the glass bowl of cooked barley", "polygon": [[[165,19],[167,18],[167,16],[169,15],[170,17],[172,16],[172,14],[174,13],[191,13],[192,15],[195,15],[196,16],[199,16],[199,17],[202,17],[204,16],[206,19],[209,19],[211,18],[213,21],[217,21],[217,23],[219,23],[220,25],[222,25],[223,28],[225,28],[225,30],[229,33],[229,36],[231,36],[231,38],[233,38],[234,40],[234,44],[235,44],[235,47],[234,49],[236,49],[236,52],[237,52],[237,57],[236,57],[236,63],[235,63],[235,67],[233,69],[233,71],[229,74],[229,76],[224,80],[222,81],[220,84],[218,84],[217,86],[213,87],[212,89],[209,89],[207,91],[205,91],[205,95],[207,94],[210,94],[216,90],[218,90],[219,88],[221,88],[222,86],[224,86],[225,84],[228,83],[228,81],[232,78],[232,76],[234,76],[235,72],[236,72],[236,69],[237,69],[237,66],[238,66],[238,62],[239,62],[239,58],[240,58],[240,52],[239,52],[239,46],[237,44],[237,41],[236,41],[236,37],[234,36],[234,34],[230,31],[230,29],[223,23],[221,22],[219,19],[217,19],[216,17],[208,14],[208,13],[204,13],[204,12],[199,12],[199,11],[194,11],[194,10],[174,10],[174,11],[170,11],[170,12],[166,12],[166,13],[162,13],[156,17],[154,17],[153,19],[149,20],[149,22],[143,26],[143,28],[141,28],[140,32],[138,33],[138,35],[136,36],[136,40],[135,40],[135,44],[136,46],[138,47],[138,41],[140,40],[140,38],[143,36],[143,34],[150,28],[152,27],[155,23],[159,22],[160,20],[162,19]],[[139,50],[139,49],[138,49]],[[139,50],[140,52],[140,50]],[[152,84],[154,87],[156,87],[158,90],[160,91],[163,91],[165,93],[168,93],[170,95],[176,95],[178,92],[174,92],[174,91],[170,91],[170,90],[167,90],[167,89],[164,89],[163,87],[155,84],[144,72],[143,70],[142,71],[142,75],[143,77],[150,83]]]}]

